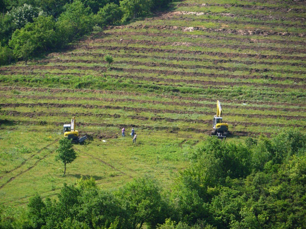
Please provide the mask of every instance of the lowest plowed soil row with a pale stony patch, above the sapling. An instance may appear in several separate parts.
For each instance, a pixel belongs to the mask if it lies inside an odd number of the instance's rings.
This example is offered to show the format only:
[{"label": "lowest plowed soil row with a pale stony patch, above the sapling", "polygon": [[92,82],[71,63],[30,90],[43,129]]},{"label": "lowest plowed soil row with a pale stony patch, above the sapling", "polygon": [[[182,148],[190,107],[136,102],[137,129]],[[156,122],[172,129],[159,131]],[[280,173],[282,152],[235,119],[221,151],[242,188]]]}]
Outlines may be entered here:
[{"label": "lowest plowed soil row with a pale stony patch, above the sapling", "polygon": [[187,46],[187,47],[204,47],[204,48],[221,48],[221,49],[252,49],[255,51],[277,51],[279,53],[285,54],[293,54],[293,53],[305,53],[306,49],[300,48],[278,48],[278,47],[261,47],[256,45],[224,45],[224,44],[214,44],[214,43],[194,43],[194,42],[160,42],[160,41],[150,41],[150,40],[137,40],[137,39],[95,39],[95,44],[106,44],[108,42],[117,42],[120,44],[144,44],[144,45],[152,45],[152,46]]}]

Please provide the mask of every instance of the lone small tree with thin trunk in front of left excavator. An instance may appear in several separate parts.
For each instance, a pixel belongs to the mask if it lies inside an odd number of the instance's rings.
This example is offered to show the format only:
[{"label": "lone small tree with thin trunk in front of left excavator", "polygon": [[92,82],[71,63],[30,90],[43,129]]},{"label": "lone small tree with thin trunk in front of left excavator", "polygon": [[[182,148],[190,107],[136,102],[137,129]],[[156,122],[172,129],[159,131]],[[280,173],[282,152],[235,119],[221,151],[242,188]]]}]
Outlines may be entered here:
[{"label": "lone small tree with thin trunk in front of left excavator", "polygon": [[66,174],[66,164],[69,164],[76,159],[76,152],[72,148],[72,142],[71,139],[63,138],[59,140],[59,147],[56,150],[58,152],[58,155],[56,155],[55,160],[60,160],[64,163],[65,169],[64,169],[64,175]]}]

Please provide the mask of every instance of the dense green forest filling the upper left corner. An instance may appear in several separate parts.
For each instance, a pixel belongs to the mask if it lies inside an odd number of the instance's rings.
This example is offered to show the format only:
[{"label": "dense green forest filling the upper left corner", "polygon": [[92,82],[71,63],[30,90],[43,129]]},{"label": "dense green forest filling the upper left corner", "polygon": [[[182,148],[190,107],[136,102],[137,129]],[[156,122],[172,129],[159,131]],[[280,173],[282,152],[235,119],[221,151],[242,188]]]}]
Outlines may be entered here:
[{"label": "dense green forest filling the upper left corner", "polygon": [[0,0],[0,65],[26,63],[106,25],[165,8],[170,0]]}]

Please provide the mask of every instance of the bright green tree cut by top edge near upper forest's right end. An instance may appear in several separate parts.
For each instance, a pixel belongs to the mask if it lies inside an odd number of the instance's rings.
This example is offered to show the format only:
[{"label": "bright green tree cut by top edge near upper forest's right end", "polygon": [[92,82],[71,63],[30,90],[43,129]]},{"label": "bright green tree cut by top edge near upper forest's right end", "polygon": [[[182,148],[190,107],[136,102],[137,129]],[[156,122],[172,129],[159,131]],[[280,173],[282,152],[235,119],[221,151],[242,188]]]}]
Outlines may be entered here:
[{"label": "bright green tree cut by top edge near upper forest's right end", "polygon": [[120,6],[125,12],[125,20],[134,19],[150,13],[151,0],[122,0]]}]

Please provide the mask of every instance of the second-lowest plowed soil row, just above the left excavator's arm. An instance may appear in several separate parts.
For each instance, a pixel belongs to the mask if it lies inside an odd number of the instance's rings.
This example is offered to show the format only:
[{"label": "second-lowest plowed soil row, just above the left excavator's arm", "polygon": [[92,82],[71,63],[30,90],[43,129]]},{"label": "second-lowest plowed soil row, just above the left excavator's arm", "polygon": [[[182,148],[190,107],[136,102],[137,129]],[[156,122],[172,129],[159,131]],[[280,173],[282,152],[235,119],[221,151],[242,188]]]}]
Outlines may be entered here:
[{"label": "second-lowest plowed soil row, just above the left excavator's arm", "polygon": [[[0,111],[0,115],[10,115],[10,116],[22,116],[22,117],[29,117],[29,118],[35,118],[35,117],[41,117],[41,116],[67,116],[67,115],[72,115],[75,116],[77,115],[78,117],[82,116],[94,116],[94,117],[114,117],[114,118],[120,118],[121,115],[108,115],[108,114],[94,114],[94,113],[69,113],[69,112],[19,112],[19,111]],[[202,120],[202,119],[188,119],[188,118],[165,118],[165,117],[144,117],[144,116],[139,116],[139,115],[128,115],[127,118],[130,119],[137,119],[137,120],[151,120],[151,121],[166,121],[166,122],[186,122],[186,123],[202,123],[202,124],[212,124],[212,120]],[[248,126],[277,126],[277,127],[306,127],[305,125],[299,125],[299,124],[265,124],[265,123],[256,123],[256,122],[230,122],[231,125],[237,126],[237,125],[243,125],[245,127]]]}]

